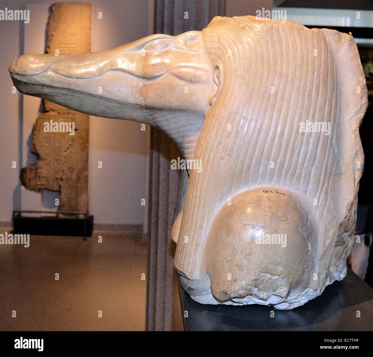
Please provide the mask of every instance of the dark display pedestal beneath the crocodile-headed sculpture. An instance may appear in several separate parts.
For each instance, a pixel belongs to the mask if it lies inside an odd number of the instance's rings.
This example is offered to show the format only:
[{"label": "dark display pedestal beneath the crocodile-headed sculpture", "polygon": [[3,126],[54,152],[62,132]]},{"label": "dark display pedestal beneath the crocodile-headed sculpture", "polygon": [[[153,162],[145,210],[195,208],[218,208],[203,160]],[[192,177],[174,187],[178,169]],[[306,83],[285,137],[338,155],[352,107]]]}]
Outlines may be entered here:
[{"label": "dark display pedestal beneath the crocodile-headed sculpture", "polygon": [[[199,304],[178,281],[185,331],[373,330],[373,290],[349,268],[345,279],[327,286],[319,297],[292,310],[260,305]],[[184,317],[184,311],[188,311],[188,317]],[[271,311],[274,317],[270,317]]]}]

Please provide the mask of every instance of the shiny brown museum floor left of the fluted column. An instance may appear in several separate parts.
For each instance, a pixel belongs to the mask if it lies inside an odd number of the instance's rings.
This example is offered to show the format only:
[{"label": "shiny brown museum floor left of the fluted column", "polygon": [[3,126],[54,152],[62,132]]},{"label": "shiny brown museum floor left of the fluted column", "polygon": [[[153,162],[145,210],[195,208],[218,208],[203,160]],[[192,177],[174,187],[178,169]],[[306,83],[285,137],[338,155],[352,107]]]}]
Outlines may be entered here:
[{"label": "shiny brown museum floor left of the fluted column", "polygon": [[0,245],[0,330],[144,330],[146,259],[138,233]]}]

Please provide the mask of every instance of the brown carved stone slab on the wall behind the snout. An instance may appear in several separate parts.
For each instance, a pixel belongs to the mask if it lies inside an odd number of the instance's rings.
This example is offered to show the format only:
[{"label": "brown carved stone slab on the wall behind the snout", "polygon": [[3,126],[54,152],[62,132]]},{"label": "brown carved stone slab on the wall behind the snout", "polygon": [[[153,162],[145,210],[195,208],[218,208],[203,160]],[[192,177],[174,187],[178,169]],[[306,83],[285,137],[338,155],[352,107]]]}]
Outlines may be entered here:
[{"label": "brown carved stone slab on the wall behind the snout", "polygon": [[[91,5],[53,4],[48,20],[47,53],[90,51]],[[44,123],[50,120],[74,123],[74,134],[45,132]],[[36,192],[60,191],[59,211],[88,211],[89,115],[44,100],[44,112],[37,118],[32,134],[31,152],[38,159],[36,165],[22,169],[23,186]]]}]

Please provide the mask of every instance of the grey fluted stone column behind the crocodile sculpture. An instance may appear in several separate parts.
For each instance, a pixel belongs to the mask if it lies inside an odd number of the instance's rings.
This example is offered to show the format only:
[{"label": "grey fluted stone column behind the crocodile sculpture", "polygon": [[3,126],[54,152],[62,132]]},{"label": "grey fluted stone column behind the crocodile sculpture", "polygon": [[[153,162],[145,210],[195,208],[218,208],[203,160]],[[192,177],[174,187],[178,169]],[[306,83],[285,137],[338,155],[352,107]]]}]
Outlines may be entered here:
[{"label": "grey fluted stone column behind the crocodile sculpture", "polygon": [[[185,12],[188,12],[187,19]],[[214,16],[224,16],[224,13],[225,0],[155,0],[154,33],[178,35],[202,30]],[[150,331],[172,330],[176,244],[171,240],[171,228],[181,173],[170,169],[170,161],[178,156],[182,154],[175,144],[159,130],[151,128],[145,322]]]}]

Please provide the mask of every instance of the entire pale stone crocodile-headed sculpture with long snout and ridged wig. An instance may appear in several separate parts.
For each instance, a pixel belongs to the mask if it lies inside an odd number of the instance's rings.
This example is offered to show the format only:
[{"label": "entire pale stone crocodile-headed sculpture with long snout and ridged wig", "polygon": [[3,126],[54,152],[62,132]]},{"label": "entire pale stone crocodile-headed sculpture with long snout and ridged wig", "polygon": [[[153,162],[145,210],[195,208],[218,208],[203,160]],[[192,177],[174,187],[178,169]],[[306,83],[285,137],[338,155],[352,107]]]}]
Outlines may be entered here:
[{"label": "entire pale stone crocodile-headed sculpture with long snout and ridged wig", "polygon": [[9,71],[24,94],[154,125],[201,160],[173,227],[196,301],[290,309],[344,278],[367,106],[350,35],[217,17],[106,52],[24,55]]}]

